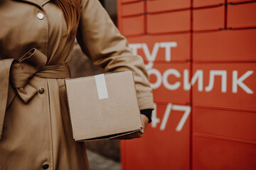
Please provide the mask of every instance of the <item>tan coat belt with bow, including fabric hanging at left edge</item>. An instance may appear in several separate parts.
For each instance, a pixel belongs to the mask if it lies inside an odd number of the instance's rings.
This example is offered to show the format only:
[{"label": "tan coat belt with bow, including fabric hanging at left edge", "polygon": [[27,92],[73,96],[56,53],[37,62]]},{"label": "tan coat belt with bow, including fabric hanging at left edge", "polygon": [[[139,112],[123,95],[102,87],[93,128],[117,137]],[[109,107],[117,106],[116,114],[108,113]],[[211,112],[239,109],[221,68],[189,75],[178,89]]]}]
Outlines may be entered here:
[{"label": "tan coat belt with bow, including fabric hanging at left edge", "polygon": [[[31,101],[37,94],[29,79],[31,77],[64,79],[70,77],[67,64],[46,65],[47,57],[35,48],[29,50],[20,60],[6,60],[4,69],[0,69],[0,77],[5,82],[0,82],[0,139],[4,125],[4,115],[15,96],[18,96],[23,103]],[[9,77],[11,84],[9,84]]]}]

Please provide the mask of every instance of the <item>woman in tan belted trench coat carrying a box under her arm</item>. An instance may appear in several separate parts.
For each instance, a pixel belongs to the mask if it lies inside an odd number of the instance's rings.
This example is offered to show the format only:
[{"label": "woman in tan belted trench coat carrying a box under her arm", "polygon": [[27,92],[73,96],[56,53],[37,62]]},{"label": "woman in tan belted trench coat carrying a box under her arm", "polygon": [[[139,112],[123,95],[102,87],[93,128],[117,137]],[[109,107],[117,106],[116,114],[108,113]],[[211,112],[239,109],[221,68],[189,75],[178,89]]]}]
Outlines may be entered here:
[{"label": "woman in tan belted trench coat carrying a box under her arm", "polygon": [[143,61],[99,1],[1,0],[0,21],[1,170],[89,169],[83,143],[73,142],[65,96],[75,35],[107,72],[133,70],[146,127],[153,102]]}]

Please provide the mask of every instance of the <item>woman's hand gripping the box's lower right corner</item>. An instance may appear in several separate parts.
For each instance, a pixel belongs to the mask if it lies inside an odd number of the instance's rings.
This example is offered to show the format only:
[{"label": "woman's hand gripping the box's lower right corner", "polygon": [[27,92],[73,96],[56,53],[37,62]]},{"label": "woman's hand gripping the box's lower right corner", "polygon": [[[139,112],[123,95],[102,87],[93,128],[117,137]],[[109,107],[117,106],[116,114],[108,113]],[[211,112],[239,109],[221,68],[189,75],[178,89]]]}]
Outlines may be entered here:
[{"label": "woman's hand gripping the box's lower right corner", "polygon": [[128,135],[114,138],[113,140],[131,140],[133,138],[142,137],[144,135],[144,131],[146,130],[146,125],[149,123],[149,118],[146,118],[146,115],[142,115],[142,114],[141,114],[141,118],[142,118],[142,125],[143,125],[142,130],[139,130],[139,132],[134,132]]}]

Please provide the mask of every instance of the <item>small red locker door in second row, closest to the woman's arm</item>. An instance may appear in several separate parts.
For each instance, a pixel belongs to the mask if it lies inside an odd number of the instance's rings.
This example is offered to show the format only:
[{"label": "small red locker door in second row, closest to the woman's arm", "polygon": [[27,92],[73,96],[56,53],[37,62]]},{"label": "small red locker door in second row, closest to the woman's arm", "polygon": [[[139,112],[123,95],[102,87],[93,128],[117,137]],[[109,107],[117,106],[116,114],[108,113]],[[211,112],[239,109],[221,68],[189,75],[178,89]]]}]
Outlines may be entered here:
[{"label": "small red locker door in second row, closest to the woman's arm", "polygon": [[122,18],[124,35],[142,35],[144,34],[144,16],[134,16]]}]

